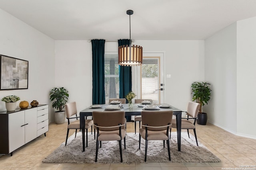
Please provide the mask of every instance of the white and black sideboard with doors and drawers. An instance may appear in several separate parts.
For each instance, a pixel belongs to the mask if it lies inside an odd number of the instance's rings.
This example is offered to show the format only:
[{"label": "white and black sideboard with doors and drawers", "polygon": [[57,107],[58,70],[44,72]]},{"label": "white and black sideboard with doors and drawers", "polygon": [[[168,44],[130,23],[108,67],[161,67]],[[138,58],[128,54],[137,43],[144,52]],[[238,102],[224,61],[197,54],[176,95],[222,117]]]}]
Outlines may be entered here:
[{"label": "white and black sideboard with doors and drawers", "polygon": [[48,131],[48,105],[0,112],[0,154],[11,154]]}]

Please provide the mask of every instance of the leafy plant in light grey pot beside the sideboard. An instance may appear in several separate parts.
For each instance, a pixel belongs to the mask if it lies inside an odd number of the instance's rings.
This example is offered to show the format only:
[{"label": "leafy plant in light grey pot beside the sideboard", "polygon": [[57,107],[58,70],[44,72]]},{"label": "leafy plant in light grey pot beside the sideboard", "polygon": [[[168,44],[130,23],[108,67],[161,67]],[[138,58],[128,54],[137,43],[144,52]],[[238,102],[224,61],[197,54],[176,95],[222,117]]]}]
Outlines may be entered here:
[{"label": "leafy plant in light grey pot beside the sideboard", "polygon": [[64,87],[53,88],[50,91],[50,101],[52,102],[52,107],[57,109],[55,111],[55,123],[62,124],[66,119],[66,112],[63,111],[66,102],[68,102],[68,90]]}]

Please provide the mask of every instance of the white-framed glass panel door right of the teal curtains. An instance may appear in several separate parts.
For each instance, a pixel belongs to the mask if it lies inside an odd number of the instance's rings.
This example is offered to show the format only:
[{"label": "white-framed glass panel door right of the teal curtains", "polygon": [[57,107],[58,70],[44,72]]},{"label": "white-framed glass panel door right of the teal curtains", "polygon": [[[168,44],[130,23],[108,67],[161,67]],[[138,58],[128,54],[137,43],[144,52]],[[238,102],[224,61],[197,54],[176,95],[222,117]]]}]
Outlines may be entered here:
[{"label": "white-framed glass panel door right of the teal curtains", "polygon": [[165,52],[144,52],[142,66],[132,67],[132,91],[137,99],[164,103]]}]

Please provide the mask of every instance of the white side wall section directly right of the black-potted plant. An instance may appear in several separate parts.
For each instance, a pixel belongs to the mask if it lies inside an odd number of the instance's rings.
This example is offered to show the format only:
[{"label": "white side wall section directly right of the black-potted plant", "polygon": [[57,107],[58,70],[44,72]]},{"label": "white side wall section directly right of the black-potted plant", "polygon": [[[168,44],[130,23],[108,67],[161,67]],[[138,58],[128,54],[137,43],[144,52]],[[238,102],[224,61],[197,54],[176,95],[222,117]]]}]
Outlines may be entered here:
[{"label": "white side wall section directly right of the black-potted plant", "polygon": [[212,97],[203,111],[208,121],[236,133],[236,23],[205,40],[205,80]]}]

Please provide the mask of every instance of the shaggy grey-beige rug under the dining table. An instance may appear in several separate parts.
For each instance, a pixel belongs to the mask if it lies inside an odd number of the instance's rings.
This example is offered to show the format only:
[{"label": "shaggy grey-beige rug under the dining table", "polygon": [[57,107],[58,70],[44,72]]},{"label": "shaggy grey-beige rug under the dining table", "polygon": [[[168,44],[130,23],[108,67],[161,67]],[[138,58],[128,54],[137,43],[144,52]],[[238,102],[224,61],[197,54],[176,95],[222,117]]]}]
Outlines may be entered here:
[{"label": "shaggy grey-beige rug under the dining table", "polygon": [[[196,141],[193,135],[188,138],[182,133],[181,152],[178,151],[176,132],[171,134],[170,151],[171,162],[220,162],[204,145]],[[68,138],[65,146],[63,142],[60,147],[54,150],[49,156],[42,160],[43,163],[95,163],[96,140],[94,135],[88,134],[88,147],[82,152],[82,134],[78,132]],[[134,133],[126,134],[126,149],[122,141],[123,163],[144,163],[145,140],[141,138],[139,150],[139,135]],[[163,141],[148,141],[147,162],[170,162],[168,159],[167,145],[163,148]],[[120,151],[118,141],[102,141],[102,148],[98,151],[96,163],[120,163]]]}]

